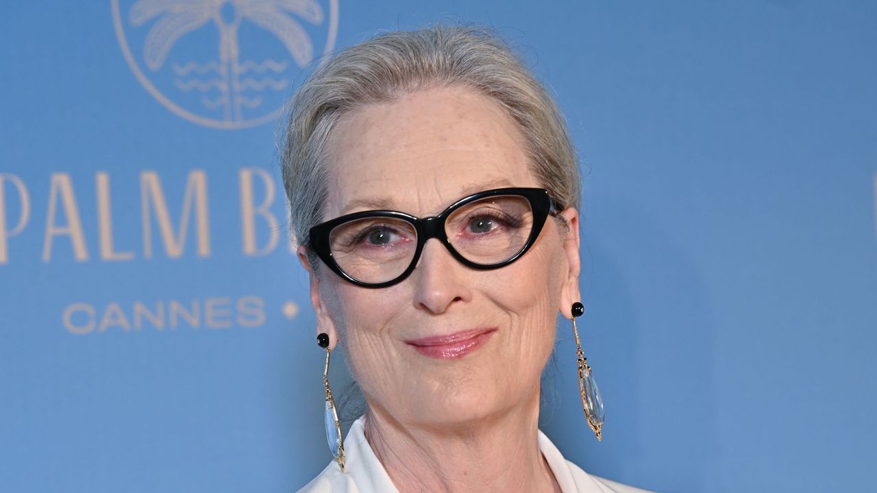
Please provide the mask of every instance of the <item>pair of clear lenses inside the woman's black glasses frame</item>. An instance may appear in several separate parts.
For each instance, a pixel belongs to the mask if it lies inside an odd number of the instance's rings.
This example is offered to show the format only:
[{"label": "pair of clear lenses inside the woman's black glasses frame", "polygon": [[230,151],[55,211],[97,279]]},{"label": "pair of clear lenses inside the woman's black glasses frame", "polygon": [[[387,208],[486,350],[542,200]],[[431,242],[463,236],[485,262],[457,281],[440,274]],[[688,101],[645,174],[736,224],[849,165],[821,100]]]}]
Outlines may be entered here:
[{"label": "pair of clear lenses inside the woman's black glasses frame", "polygon": [[[530,201],[523,196],[488,196],[454,210],[445,222],[451,246],[467,261],[492,265],[518,254],[533,226]],[[410,266],[417,230],[399,218],[360,218],[332,229],[332,258],[360,282],[387,282]]]}]

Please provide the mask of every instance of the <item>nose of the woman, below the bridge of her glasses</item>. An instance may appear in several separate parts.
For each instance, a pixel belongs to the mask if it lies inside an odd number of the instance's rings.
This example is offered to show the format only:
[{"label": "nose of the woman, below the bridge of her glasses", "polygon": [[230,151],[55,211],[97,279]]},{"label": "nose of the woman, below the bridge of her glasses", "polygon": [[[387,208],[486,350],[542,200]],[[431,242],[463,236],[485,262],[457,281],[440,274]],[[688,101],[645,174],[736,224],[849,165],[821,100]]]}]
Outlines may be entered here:
[{"label": "nose of the woman, below the bridge of her glasses", "polygon": [[468,269],[453,258],[439,239],[428,239],[411,273],[414,304],[432,313],[444,313],[456,302],[472,299],[467,282]]}]

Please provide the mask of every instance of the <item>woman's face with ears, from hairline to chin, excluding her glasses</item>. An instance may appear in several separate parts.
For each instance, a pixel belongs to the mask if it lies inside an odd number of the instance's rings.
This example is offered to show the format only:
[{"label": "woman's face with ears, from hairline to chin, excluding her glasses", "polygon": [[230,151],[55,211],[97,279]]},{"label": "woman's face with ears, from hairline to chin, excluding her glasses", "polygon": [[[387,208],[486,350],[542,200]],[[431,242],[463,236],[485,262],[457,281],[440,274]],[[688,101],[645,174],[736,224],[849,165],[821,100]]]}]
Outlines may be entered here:
[{"label": "woman's face with ears, from hairline to chin, excluding her glasses", "polygon": [[[326,219],[373,209],[424,218],[477,191],[540,186],[514,121],[460,88],[347,115],[327,166]],[[344,345],[372,411],[406,425],[448,426],[538,405],[558,311],[568,318],[579,299],[578,215],[563,215],[569,232],[549,217],[533,247],[503,268],[467,268],[431,239],[414,272],[389,288],[355,286],[328,268],[311,273],[317,332]],[[429,347],[460,333],[478,335],[462,344],[468,351],[459,341],[449,351]]]}]

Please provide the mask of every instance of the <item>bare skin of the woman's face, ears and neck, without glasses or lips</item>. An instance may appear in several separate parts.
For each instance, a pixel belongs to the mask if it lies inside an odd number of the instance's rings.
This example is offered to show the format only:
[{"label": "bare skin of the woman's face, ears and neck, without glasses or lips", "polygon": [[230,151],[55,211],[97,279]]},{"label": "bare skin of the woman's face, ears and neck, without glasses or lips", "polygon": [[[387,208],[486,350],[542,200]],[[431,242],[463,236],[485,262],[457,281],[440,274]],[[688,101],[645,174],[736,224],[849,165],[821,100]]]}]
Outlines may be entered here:
[{"label": "bare skin of the woman's face, ears and neck, without glasses or lips", "polygon": [[[437,215],[475,191],[540,187],[515,122],[467,88],[425,89],[346,116],[332,134],[324,218],[389,208]],[[355,203],[355,204],[354,204]],[[579,215],[548,218],[530,251],[488,271],[438,240],[383,289],[310,270],[317,333],[341,342],[366,397],[366,436],[401,492],[560,491],[538,450],[539,378],[558,311],[579,293]],[[405,339],[496,327],[462,358],[418,354]]]}]

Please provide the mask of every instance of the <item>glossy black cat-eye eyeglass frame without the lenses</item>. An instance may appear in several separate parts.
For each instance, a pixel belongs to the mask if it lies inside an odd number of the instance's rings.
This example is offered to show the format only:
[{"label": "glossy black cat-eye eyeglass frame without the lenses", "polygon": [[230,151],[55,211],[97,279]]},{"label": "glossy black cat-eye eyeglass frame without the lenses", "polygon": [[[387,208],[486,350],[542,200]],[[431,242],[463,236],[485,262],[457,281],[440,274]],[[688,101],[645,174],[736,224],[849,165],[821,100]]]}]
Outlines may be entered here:
[{"label": "glossy black cat-eye eyeglass frame without the lenses", "polygon": [[[530,230],[530,237],[527,238],[524,246],[518,250],[517,254],[512,255],[505,261],[495,264],[479,264],[469,261],[453,247],[451,240],[448,239],[447,232],[445,231],[445,222],[446,219],[453,214],[453,211],[460,209],[460,207],[464,205],[475,202],[476,200],[481,200],[490,196],[523,196],[530,203],[530,210],[533,214],[533,224]],[[330,219],[311,227],[309,248],[312,252],[317,254],[317,257],[319,257],[328,268],[332,269],[332,272],[341,276],[341,278],[347,282],[352,282],[363,288],[380,289],[398,284],[408,278],[408,276],[414,272],[414,269],[417,268],[417,261],[420,260],[420,255],[423,253],[426,242],[433,238],[439,239],[439,242],[447,248],[453,258],[468,268],[492,270],[505,267],[521,258],[528,250],[530,250],[533,244],[536,243],[536,239],[538,238],[539,233],[542,232],[542,228],[545,226],[545,220],[548,216],[556,218],[560,216],[560,213],[558,212],[557,203],[548,194],[548,190],[546,189],[523,187],[489,189],[469,196],[464,196],[463,198],[460,198],[460,200],[449,205],[444,211],[441,211],[438,216],[430,216],[427,218],[417,218],[416,216],[411,216],[404,212],[389,210],[360,211],[345,214],[344,216],[339,216],[338,218]],[[403,270],[402,274],[397,275],[389,281],[363,282],[352,275],[348,275],[338,265],[338,262],[335,261],[335,258],[332,255],[332,247],[329,244],[332,230],[339,225],[362,218],[395,218],[401,219],[414,226],[414,230],[417,232],[417,246],[415,247],[414,255],[411,257],[410,265]]]}]

